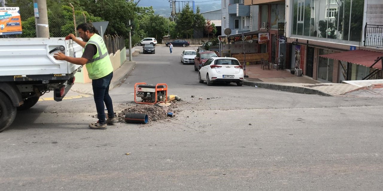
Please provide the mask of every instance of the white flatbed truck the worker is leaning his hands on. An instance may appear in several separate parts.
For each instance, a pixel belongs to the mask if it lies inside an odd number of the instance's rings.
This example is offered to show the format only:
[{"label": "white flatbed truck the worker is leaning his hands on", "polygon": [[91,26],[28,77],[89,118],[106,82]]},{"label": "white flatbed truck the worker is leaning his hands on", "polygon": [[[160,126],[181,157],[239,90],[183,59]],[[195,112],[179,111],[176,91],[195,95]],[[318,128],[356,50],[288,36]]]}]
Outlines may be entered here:
[{"label": "white flatbed truck the worker is leaning his hands on", "polygon": [[55,60],[58,51],[82,56],[82,47],[64,37],[0,39],[0,132],[15,120],[17,110],[31,108],[46,92],[52,91],[57,102],[67,94],[81,66]]}]

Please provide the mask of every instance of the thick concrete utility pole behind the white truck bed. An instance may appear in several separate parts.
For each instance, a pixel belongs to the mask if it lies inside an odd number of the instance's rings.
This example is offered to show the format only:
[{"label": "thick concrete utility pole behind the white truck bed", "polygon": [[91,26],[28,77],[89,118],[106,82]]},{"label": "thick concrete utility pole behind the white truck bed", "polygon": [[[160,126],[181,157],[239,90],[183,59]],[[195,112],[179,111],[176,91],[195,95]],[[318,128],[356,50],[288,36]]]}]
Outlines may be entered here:
[{"label": "thick concrete utility pole behind the white truck bed", "polygon": [[36,23],[36,37],[49,38],[47,2],[46,0],[33,0],[33,5]]}]

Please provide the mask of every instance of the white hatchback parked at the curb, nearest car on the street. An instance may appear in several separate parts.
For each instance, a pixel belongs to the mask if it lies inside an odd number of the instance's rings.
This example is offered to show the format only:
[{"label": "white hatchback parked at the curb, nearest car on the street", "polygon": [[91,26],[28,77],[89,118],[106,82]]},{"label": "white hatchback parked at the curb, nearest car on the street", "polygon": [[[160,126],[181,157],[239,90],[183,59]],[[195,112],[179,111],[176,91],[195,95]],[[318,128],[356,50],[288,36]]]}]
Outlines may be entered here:
[{"label": "white hatchback parked at the curb, nearest car on the street", "polygon": [[213,82],[237,83],[237,86],[242,86],[243,78],[242,65],[236,58],[209,58],[198,72],[200,83],[206,81],[208,86],[213,85]]}]

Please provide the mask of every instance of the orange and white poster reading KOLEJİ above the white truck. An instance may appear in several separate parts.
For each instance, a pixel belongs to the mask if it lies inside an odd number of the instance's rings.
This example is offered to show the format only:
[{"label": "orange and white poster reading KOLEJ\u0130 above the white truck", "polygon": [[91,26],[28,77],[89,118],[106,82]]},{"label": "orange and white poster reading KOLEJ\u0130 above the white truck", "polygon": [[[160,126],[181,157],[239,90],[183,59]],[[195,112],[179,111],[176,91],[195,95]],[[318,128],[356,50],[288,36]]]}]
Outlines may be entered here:
[{"label": "orange and white poster reading KOLEJ\u0130 above the white truck", "polygon": [[22,34],[18,7],[0,7],[0,35]]}]

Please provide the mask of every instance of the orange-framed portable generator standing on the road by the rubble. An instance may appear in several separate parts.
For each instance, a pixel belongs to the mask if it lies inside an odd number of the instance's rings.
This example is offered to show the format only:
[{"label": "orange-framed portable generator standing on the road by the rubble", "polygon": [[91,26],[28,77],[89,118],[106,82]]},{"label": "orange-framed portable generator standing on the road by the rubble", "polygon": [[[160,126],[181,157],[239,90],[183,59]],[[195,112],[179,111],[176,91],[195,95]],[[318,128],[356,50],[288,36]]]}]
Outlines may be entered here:
[{"label": "orange-framed portable generator standing on the road by the rubble", "polygon": [[[165,102],[167,100],[167,85],[166,84],[146,84],[137,83],[134,87],[134,101],[141,104],[155,104]],[[136,100],[136,97],[141,97],[141,102]]]}]

